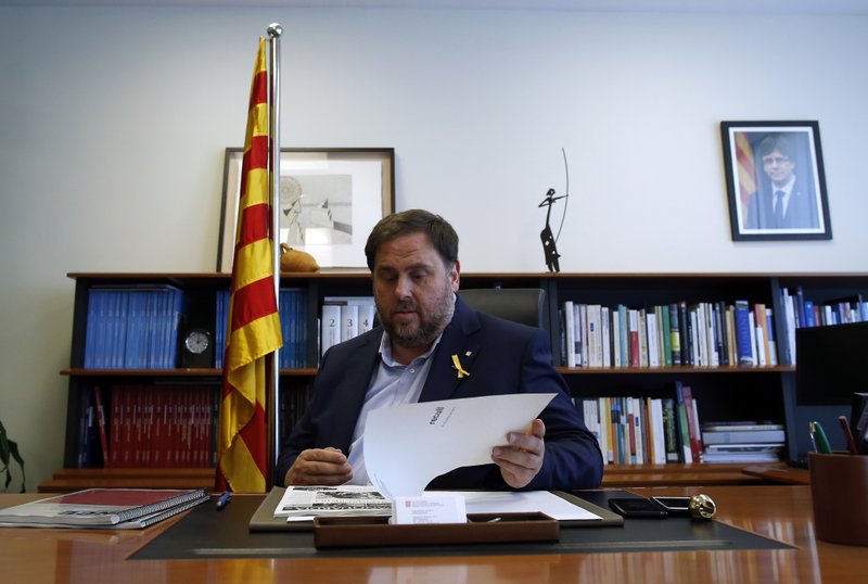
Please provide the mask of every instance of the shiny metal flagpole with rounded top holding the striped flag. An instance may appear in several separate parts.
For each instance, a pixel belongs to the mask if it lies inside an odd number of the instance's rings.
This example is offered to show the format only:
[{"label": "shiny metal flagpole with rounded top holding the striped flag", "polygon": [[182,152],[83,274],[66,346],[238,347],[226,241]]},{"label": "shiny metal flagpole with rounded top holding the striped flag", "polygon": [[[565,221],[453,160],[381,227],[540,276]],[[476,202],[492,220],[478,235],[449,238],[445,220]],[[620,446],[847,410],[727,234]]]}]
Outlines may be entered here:
[{"label": "shiny metal flagpole with rounded top holding the striped flag", "polygon": [[[269,82],[269,128],[271,137],[271,172],[269,173],[270,205],[271,205],[271,243],[275,272],[275,299],[278,302],[278,313],[280,312],[280,37],[283,35],[283,27],[279,23],[268,25],[268,36],[271,42],[271,71]],[[285,343],[285,341],[284,341]],[[280,359],[278,351],[271,354],[271,423],[268,424],[271,442],[271,460],[268,468],[272,469],[278,453],[280,452]],[[273,482],[272,477],[272,482]],[[266,491],[268,488],[266,487]]]}]

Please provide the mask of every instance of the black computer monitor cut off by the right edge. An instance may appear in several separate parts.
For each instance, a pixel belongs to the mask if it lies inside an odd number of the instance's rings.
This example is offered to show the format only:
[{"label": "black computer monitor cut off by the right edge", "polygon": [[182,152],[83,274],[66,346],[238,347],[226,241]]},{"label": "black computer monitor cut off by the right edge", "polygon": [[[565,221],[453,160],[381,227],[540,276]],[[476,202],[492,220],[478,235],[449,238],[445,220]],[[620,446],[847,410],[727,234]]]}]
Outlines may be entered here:
[{"label": "black computer monitor cut off by the right edge", "polygon": [[800,406],[847,406],[868,392],[868,322],[795,331],[795,399]]}]

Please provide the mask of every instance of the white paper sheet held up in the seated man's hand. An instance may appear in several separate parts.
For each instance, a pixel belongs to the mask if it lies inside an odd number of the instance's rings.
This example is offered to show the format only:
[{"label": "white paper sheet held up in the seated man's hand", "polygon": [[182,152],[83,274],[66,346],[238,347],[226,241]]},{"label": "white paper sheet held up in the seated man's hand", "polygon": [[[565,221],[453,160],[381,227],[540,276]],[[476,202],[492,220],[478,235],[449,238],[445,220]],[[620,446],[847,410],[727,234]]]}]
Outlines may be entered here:
[{"label": "white paper sheet held up in the seated man's hand", "polygon": [[419,496],[435,477],[492,462],[507,433],[525,432],[553,393],[488,395],[375,409],[365,427],[368,477],[387,499]]}]

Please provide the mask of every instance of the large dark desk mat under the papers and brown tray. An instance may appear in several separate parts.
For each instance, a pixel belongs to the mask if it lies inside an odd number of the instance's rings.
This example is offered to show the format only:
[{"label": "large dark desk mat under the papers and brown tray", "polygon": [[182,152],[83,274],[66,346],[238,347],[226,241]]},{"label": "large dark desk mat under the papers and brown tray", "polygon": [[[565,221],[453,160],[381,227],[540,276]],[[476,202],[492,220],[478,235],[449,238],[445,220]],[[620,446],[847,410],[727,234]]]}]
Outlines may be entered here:
[{"label": "large dark desk mat under the papers and brown tray", "polygon": [[[600,506],[623,491],[576,495]],[[562,529],[559,542],[317,549],[309,531],[251,532],[248,521],[263,497],[238,496],[217,511],[199,505],[135,553],[130,559],[202,558],[382,558],[425,556],[514,556],[605,551],[789,549],[792,546],[717,521],[686,517],[627,519],[623,526]]]}]

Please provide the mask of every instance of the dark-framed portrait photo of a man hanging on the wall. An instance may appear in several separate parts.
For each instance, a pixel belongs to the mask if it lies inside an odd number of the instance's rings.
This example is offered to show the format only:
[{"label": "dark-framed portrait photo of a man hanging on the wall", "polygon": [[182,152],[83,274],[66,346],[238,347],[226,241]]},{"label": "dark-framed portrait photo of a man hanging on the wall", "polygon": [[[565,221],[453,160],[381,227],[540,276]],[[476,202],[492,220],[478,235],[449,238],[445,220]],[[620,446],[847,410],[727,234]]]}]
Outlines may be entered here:
[{"label": "dark-framed portrait photo of a man hanging on the wall", "polygon": [[817,122],[722,122],[735,241],[832,239]]}]

